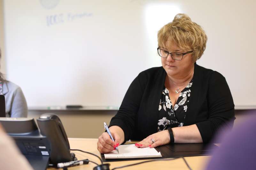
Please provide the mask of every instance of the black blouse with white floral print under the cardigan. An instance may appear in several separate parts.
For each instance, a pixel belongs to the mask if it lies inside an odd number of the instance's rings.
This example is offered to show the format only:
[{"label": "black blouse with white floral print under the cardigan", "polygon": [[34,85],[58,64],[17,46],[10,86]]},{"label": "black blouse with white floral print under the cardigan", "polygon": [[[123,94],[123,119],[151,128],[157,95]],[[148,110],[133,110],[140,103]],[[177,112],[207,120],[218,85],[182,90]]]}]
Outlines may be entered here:
[{"label": "black blouse with white floral print under the cardigan", "polygon": [[164,87],[158,109],[158,131],[166,130],[168,127],[173,128],[183,126],[184,120],[186,118],[189,99],[191,96],[192,83],[193,79],[181,91],[174,105],[174,108],[169,98],[169,90],[166,87]]}]

